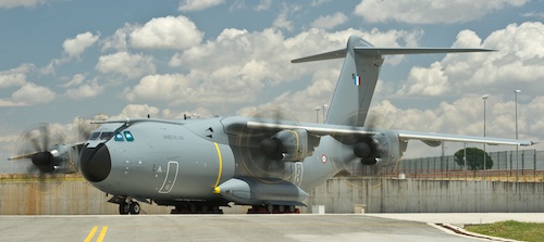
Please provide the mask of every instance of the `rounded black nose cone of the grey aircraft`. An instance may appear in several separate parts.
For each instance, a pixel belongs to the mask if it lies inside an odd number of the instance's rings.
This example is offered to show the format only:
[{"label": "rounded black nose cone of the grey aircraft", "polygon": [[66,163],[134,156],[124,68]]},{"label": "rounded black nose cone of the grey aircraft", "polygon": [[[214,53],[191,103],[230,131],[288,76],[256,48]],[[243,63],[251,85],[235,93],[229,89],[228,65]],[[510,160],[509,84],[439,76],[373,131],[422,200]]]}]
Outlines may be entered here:
[{"label": "rounded black nose cone of the grey aircraft", "polygon": [[111,156],[104,143],[96,148],[84,147],[79,158],[82,174],[88,181],[104,180],[111,171]]}]

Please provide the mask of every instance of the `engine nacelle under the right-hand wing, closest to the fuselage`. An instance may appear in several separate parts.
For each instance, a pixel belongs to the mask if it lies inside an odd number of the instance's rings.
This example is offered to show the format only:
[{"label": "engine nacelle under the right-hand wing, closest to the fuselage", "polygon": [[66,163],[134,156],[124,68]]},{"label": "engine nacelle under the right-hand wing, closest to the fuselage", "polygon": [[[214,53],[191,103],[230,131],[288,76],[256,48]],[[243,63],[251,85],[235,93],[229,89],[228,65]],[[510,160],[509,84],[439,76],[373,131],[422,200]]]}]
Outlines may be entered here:
[{"label": "engine nacelle under the right-hand wing, closest to the fuselage", "polygon": [[311,154],[306,129],[281,130],[260,143],[262,152],[272,160],[299,162]]}]

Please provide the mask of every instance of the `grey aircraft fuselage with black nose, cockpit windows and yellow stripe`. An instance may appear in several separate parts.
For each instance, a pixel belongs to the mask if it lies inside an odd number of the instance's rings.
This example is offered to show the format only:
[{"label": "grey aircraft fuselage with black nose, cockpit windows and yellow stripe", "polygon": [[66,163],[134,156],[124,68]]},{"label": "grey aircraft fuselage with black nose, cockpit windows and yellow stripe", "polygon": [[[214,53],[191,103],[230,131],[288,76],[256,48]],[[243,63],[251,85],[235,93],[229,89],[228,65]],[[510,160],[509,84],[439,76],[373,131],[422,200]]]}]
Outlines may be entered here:
[{"label": "grey aircraft fuselage with black nose, cockpit windows and yellow stripe", "polygon": [[84,147],[82,173],[92,186],[110,194],[154,201],[210,201],[221,199],[212,193],[214,188],[235,177],[258,181],[275,178],[309,191],[357,158],[351,148],[331,137],[322,137],[313,154],[297,162],[252,157],[251,153],[260,150],[258,144],[248,148],[251,138],[225,131],[225,127],[247,119],[103,124]]}]

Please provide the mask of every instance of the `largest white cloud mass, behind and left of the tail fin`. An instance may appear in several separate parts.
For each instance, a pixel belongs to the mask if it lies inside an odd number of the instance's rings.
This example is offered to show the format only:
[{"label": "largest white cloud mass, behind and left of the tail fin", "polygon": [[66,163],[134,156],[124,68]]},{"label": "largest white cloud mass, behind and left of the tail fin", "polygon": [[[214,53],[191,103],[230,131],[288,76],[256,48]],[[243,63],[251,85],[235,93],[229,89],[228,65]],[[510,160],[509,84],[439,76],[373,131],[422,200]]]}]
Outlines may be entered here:
[{"label": "largest white cloud mass, behind and left of the tail fin", "polygon": [[[330,33],[320,28],[311,28],[296,36],[285,37],[282,31],[274,28],[262,31],[228,28],[215,39],[178,52],[172,58],[170,61],[172,67],[189,69],[185,74],[177,74],[177,80],[165,75],[145,77],[138,86],[127,90],[126,97],[129,100],[168,99],[171,104],[243,105],[258,100],[263,92],[268,91],[267,88],[293,86],[296,85],[294,80],[309,79],[308,76],[319,73],[312,77],[309,89],[294,90],[268,101],[273,102],[274,105],[289,105],[289,109],[296,110],[296,113],[308,114],[302,118],[312,120],[313,118],[309,118],[314,116],[314,114],[311,115],[314,107],[312,105],[330,101],[342,62],[292,64],[289,61],[344,48],[350,35],[363,36],[379,46],[396,47],[417,46],[422,33],[420,30],[380,31],[378,29],[371,31],[346,29]],[[188,86],[178,88],[181,82]],[[156,85],[157,87],[153,87]],[[168,88],[162,88],[162,85]],[[158,87],[161,88],[157,89]],[[259,100],[259,102],[267,101]],[[265,105],[268,104],[270,103]]]}]

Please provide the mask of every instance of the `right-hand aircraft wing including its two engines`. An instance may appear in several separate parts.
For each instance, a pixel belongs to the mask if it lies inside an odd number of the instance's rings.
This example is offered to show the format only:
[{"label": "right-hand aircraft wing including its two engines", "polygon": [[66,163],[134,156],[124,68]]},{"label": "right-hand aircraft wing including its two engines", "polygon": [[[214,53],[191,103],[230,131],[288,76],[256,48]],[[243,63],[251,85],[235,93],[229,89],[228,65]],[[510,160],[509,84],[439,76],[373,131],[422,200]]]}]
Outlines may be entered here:
[{"label": "right-hand aircraft wing including its two engines", "polygon": [[[420,140],[430,147],[444,141],[529,147],[536,142],[491,137],[461,136],[395,129],[374,129],[360,126],[296,123],[272,119],[225,118],[225,131],[237,137],[237,145],[257,151],[251,157],[275,161],[300,161],[320,145],[321,138],[330,136],[345,147],[343,158],[359,157],[362,164],[386,165],[401,157],[409,140]],[[351,152],[349,152],[349,150]],[[351,156],[349,156],[351,155]],[[384,158],[386,161],[384,161]]]}]

